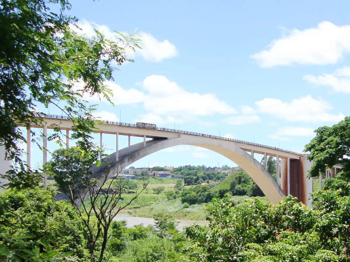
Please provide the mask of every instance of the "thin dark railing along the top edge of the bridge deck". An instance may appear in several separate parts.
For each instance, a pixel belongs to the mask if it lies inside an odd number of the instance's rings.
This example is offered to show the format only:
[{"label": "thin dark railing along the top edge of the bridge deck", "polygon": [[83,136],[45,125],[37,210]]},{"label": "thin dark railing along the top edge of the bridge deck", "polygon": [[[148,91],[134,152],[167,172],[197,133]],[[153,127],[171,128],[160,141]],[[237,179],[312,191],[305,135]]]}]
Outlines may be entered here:
[{"label": "thin dark railing along the top edge of the bridge deck", "polygon": [[[63,115],[62,116],[59,116],[59,115],[46,115],[46,114],[37,114],[37,115],[38,115],[38,117],[41,117],[41,118],[71,120],[70,117],[63,116]],[[117,126],[127,126],[127,127],[132,127],[132,128],[140,128],[136,124],[131,124],[131,123],[113,122],[113,121],[107,121],[107,120],[101,120],[100,122],[103,122],[103,123],[105,123],[107,125],[117,125]],[[143,128],[141,128],[141,129],[143,129]],[[190,131],[176,130],[176,129],[170,129],[170,128],[158,128],[158,127],[155,128],[155,129],[152,129],[152,130],[159,130],[159,131],[166,131],[166,132],[173,132],[173,133],[180,133],[180,134],[190,134],[192,136],[217,138],[217,139],[228,140],[228,141],[233,141],[233,142],[243,143],[243,144],[253,145],[253,146],[260,146],[260,147],[275,149],[275,150],[279,150],[279,151],[283,151],[283,152],[287,152],[287,153],[302,155],[301,153],[296,153],[296,152],[285,150],[285,149],[281,149],[281,148],[278,148],[278,147],[261,145],[261,144],[252,143],[252,142],[248,142],[248,141],[243,141],[243,140],[239,140],[239,139],[233,139],[233,138],[227,138],[227,137],[219,137],[219,136],[214,136],[214,135],[211,135],[211,134],[202,134],[202,133],[196,133],[196,132],[190,132]]]}]

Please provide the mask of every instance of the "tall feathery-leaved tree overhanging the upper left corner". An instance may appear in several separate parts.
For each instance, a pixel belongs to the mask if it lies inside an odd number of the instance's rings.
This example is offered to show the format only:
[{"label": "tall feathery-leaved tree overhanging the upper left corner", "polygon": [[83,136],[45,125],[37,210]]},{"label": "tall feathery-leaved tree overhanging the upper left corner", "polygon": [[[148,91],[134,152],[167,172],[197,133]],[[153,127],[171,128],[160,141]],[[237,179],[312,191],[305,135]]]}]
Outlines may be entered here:
[{"label": "tall feathery-leaved tree overhanging the upper left corner", "polygon": [[[111,102],[104,81],[113,80],[114,65],[133,61],[126,48],[135,50],[139,43],[133,35],[111,41],[96,30],[91,38],[79,34],[77,19],[67,15],[71,9],[67,0],[3,0],[0,6],[0,145],[15,163],[1,175],[10,180],[10,187],[32,187],[41,176],[27,171],[20,158],[19,141],[29,141],[17,125],[42,124],[36,107],[54,106],[73,121],[71,138],[78,140],[77,146],[93,151],[90,134],[96,118],[83,96],[96,94]],[[76,83],[82,87],[74,88]],[[48,139],[62,144],[59,126],[55,131]]]}]

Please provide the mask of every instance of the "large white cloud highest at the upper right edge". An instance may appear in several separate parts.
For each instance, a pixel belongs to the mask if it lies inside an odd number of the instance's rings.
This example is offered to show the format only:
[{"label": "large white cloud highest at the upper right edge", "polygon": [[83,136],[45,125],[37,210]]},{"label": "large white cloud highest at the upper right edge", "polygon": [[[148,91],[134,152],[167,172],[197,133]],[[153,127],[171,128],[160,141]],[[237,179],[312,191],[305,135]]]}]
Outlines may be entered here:
[{"label": "large white cloud highest at the upper right edge", "polygon": [[273,40],[268,47],[250,56],[261,67],[336,64],[344,53],[350,52],[350,26],[324,21],[315,28],[293,29],[289,35]]}]

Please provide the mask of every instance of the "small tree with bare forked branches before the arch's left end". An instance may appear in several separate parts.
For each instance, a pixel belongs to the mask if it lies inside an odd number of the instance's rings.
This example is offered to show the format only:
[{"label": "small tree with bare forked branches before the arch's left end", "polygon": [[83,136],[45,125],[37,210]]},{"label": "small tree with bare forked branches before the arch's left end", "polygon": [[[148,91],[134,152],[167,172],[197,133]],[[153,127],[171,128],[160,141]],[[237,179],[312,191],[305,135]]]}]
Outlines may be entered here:
[{"label": "small tree with bare forked branches before the arch's left end", "polygon": [[[44,166],[45,172],[54,176],[59,189],[69,198],[84,225],[91,262],[103,260],[113,218],[147,186],[147,183],[139,184],[131,199],[121,203],[127,183],[118,179],[106,184],[109,174],[106,163],[102,163],[106,165],[104,173],[99,178],[92,177],[90,167],[100,164],[89,152],[71,147],[54,151],[52,159]],[[117,188],[112,190],[112,185]]]}]

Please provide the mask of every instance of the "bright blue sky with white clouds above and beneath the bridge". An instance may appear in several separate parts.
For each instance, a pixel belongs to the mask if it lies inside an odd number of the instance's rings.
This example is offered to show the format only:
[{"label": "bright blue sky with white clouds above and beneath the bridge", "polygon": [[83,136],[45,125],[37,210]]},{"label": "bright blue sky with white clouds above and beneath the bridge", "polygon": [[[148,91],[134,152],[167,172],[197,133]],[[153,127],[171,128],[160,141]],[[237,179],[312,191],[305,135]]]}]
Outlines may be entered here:
[{"label": "bright blue sky with white clouds above and beneath the bridge", "polygon": [[[145,44],[132,54],[135,63],[121,66],[107,83],[118,108],[101,103],[96,114],[103,118],[119,121],[120,110],[122,122],[167,128],[174,128],[175,118],[182,130],[218,135],[221,129],[222,136],[301,152],[314,129],[349,115],[348,1],[71,4],[69,13],[87,35],[93,28],[109,37],[113,30],[137,28]],[[115,137],[105,135],[104,144],[113,152]],[[42,159],[33,145],[34,152],[32,166]],[[218,162],[236,166],[191,146],[149,155],[134,166]]]}]

